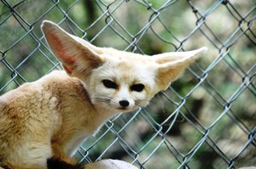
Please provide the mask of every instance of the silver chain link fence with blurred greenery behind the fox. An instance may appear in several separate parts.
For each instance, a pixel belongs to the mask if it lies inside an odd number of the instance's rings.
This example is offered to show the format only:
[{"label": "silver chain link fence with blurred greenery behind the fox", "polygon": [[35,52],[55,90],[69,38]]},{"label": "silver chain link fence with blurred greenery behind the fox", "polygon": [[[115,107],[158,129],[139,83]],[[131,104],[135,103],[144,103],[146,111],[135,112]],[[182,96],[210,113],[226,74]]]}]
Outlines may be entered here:
[{"label": "silver chain link fence with blurred greenery behind the fox", "polygon": [[255,19],[253,0],[1,0],[0,94],[61,69],[43,20],[96,46],[141,54],[207,46],[147,108],[106,122],[75,157],[147,169],[253,166]]}]

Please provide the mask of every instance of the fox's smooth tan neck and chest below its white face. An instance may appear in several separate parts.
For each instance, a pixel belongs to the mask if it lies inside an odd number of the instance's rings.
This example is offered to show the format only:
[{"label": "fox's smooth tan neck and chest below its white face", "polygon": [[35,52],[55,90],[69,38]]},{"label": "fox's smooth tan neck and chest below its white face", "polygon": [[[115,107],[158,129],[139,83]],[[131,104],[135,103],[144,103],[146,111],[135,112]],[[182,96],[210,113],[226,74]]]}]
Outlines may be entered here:
[{"label": "fox's smooth tan neck and chest below its white face", "polygon": [[60,100],[61,125],[54,132],[52,142],[61,147],[66,155],[73,155],[85,138],[94,134],[117,112],[101,104],[92,104],[86,87],[76,78],[69,77],[59,85],[61,92],[55,91],[54,95]]}]

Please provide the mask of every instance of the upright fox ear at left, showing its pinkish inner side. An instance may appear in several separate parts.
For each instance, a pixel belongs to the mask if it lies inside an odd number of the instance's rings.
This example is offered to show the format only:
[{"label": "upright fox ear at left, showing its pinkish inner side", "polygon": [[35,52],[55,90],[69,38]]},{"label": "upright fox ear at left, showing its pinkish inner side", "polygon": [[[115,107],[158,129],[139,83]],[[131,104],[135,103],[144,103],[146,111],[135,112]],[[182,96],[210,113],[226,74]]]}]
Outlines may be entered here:
[{"label": "upright fox ear at left, showing its pinkish inner side", "polygon": [[79,37],[64,31],[59,25],[44,20],[42,25],[44,36],[55,57],[61,61],[67,74],[78,76],[90,73],[91,70],[102,65],[99,48]]}]

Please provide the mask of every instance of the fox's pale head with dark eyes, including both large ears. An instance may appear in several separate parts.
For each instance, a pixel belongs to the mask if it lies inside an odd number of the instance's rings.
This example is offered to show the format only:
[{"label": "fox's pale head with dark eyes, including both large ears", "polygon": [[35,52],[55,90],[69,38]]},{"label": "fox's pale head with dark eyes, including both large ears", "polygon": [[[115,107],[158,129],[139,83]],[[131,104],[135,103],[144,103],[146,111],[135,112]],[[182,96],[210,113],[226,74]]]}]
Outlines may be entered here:
[{"label": "fox's pale head with dark eyes, including both large ears", "polygon": [[113,112],[146,106],[207,48],[147,56],[98,48],[50,21],[42,25],[55,57],[69,76],[78,77],[92,104]]}]

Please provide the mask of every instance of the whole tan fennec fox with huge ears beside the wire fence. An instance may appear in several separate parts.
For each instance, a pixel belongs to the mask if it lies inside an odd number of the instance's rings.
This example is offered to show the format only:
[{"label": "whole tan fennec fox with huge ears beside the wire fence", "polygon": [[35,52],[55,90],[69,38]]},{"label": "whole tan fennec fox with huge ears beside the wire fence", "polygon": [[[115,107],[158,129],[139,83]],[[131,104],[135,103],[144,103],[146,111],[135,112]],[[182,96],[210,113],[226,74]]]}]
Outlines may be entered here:
[{"label": "whole tan fennec fox with huge ears beside the wire fence", "polygon": [[151,57],[98,48],[50,21],[44,36],[64,70],[0,97],[0,166],[45,169],[71,163],[85,138],[113,115],[144,107],[207,48]]}]

